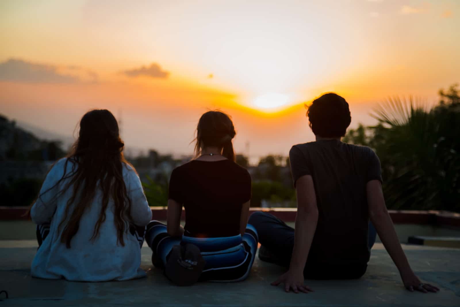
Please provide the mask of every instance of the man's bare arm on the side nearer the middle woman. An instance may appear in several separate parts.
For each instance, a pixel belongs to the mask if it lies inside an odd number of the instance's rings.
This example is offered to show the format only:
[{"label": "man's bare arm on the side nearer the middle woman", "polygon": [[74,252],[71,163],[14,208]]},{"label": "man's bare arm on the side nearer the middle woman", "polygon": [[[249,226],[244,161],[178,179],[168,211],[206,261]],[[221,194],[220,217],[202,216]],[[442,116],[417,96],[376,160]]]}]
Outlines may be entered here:
[{"label": "man's bare arm on the side nearer the middle woman", "polygon": [[318,223],[318,207],[311,175],[300,177],[296,182],[295,191],[297,215],[295,217],[294,249],[291,263],[289,271],[272,285],[284,283],[286,292],[292,288],[295,293],[298,293],[299,290],[308,293],[311,289],[304,285],[304,269]]}]

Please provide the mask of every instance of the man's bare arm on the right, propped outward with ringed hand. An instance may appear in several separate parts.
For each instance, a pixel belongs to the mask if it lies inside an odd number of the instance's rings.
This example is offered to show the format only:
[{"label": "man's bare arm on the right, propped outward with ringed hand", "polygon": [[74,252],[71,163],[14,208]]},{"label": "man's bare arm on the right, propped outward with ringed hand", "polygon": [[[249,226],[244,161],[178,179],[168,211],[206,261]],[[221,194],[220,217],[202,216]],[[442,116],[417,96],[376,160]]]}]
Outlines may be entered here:
[{"label": "man's bare arm on the right, propped outward with ringed hand", "polygon": [[403,248],[399,243],[393,221],[385,206],[385,199],[383,197],[382,184],[379,180],[371,180],[366,185],[369,216],[372,223],[379,234],[385,249],[390,254],[391,259],[397,266],[401,278],[403,279],[404,286],[409,291],[419,290],[421,292],[436,292],[439,289],[425,284],[420,287],[420,280],[412,271]]}]

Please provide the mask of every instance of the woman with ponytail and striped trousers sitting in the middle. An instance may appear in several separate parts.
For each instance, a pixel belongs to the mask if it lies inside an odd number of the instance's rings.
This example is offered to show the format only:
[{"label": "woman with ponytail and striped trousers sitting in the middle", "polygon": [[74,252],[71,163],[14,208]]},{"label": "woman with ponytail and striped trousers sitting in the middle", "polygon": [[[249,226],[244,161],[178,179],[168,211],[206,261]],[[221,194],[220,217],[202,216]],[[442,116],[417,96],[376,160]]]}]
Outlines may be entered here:
[{"label": "woman with ponytail and striped trousers sitting in the middle", "polygon": [[147,226],[152,261],[165,267],[173,246],[193,244],[206,261],[199,280],[241,281],[251,270],[258,241],[255,229],[247,225],[251,177],[235,163],[236,132],[229,116],[206,112],[196,132],[195,159],[171,174],[167,225],[152,221]]}]

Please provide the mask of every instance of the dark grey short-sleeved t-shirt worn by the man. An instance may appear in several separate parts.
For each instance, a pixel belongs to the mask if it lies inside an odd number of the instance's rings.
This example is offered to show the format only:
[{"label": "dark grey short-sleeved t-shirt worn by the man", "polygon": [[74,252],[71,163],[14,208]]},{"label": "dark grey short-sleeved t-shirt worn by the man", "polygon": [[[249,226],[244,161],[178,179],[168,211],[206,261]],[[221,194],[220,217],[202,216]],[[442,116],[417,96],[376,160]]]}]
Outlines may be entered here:
[{"label": "dark grey short-sleeved t-shirt worn by the man", "polygon": [[365,264],[369,261],[366,184],[382,181],[380,160],[365,146],[339,140],[294,145],[289,152],[294,186],[311,175],[319,211],[309,261]]}]

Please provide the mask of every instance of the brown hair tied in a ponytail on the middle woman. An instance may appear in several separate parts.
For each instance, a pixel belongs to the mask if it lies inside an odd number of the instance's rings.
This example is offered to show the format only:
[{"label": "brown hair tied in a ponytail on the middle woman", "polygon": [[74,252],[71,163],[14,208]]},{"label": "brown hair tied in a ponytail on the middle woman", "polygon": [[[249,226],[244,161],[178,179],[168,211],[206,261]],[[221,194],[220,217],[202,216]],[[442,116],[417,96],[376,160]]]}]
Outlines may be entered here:
[{"label": "brown hair tied in a ponytail on the middle woman", "polygon": [[207,111],[201,115],[196,127],[195,156],[201,154],[203,147],[215,146],[222,148],[222,156],[235,162],[232,143],[235,135],[235,127],[230,116],[221,111]]}]

